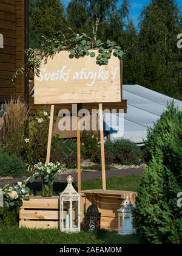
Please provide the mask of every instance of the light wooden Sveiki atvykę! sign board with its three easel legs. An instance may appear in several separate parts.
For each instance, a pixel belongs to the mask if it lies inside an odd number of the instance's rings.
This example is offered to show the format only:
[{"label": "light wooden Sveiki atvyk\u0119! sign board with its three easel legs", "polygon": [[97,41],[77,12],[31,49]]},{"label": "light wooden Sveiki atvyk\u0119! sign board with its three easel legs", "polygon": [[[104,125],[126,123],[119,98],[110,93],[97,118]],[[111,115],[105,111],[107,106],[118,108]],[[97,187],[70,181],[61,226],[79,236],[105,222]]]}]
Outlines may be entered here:
[{"label": "light wooden Sveiki atvyk\u0119! sign board with its three easel legs", "polygon": [[[98,54],[97,50],[94,50]],[[99,66],[96,57],[73,58],[62,51],[42,62],[39,76],[35,75],[35,104],[51,104],[49,138],[46,162],[50,162],[53,116],[55,104],[88,104],[99,107],[101,137],[101,164],[103,190],[106,190],[106,168],[104,154],[103,103],[118,105],[122,101],[123,62],[113,56],[108,65]],[[121,104],[123,105],[123,103]],[[81,143],[79,119],[77,118],[77,162],[78,192],[81,191]]]}]

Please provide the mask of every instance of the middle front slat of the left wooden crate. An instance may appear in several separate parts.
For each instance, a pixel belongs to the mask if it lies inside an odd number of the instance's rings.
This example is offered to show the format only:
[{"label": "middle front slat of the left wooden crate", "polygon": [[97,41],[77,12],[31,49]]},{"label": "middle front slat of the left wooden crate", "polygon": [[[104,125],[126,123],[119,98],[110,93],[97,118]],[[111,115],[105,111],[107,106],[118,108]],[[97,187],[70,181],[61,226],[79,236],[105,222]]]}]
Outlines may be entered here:
[{"label": "middle front slat of the left wooden crate", "polygon": [[19,210],[20,219],[59,219],[58,211],[48,210],[25,210],[21,208]]}]

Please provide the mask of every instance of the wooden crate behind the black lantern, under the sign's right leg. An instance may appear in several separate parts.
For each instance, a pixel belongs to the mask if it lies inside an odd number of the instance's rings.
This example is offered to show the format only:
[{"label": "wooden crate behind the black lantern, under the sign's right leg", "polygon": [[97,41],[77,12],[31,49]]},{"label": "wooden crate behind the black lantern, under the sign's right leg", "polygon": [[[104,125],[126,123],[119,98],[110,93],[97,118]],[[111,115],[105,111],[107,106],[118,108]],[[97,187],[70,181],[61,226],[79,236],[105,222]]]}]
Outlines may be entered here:
[{"label": "wooden crate behind the black lantern, under the sign's right leg", "polygon": [[135,203],[136,192],[120,190],[83,190],[81,193],[81,224],[84,226],[84,208],[92,204],[101,213],[101,229],[118,230],[118,212],[126,196]]}]

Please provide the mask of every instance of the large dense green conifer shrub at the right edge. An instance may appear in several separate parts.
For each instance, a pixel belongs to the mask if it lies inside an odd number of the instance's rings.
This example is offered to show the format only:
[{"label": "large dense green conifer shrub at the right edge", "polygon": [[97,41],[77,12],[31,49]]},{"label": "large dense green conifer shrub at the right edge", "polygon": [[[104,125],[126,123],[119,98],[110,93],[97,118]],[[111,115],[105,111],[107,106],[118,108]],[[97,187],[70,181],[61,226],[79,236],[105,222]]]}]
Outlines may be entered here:
[{"label": "large dense green conifer shrub at the right edge", "polygon": [[182,243],[182,113],[167,105],[166,112],[147,132],[146,156],[149,167],[136,197],[133,224],[150,243]]}]

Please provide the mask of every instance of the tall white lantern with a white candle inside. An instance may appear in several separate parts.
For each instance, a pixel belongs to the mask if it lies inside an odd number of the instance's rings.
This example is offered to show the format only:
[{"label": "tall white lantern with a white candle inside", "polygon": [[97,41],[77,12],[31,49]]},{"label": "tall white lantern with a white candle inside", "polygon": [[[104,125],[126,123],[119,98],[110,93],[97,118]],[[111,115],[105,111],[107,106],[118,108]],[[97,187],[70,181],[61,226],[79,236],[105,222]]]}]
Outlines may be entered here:
[{"label": "tall white lantern with a white candle inside", "polygon": [[73,177],[67,177],[67,187],[60,194],[61,232],[80,231],[80,196],[72,185]]}]

